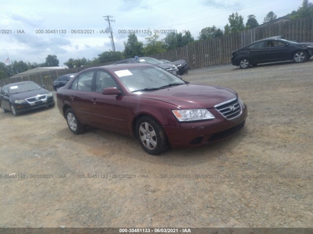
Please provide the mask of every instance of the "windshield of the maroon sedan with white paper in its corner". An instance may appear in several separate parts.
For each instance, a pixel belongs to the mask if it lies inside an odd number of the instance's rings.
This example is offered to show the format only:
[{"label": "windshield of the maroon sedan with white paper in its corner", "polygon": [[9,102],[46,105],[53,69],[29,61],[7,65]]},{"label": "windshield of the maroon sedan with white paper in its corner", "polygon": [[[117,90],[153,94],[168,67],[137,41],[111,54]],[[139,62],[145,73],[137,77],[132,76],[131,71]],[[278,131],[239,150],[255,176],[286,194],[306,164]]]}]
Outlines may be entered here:
[{"label": "windshield of the maroon sedan with white paper in its corner", "polygon": [[130,92],[152,91],[185,84],[177,76],[156,66],[136,67],[114,72]]}]

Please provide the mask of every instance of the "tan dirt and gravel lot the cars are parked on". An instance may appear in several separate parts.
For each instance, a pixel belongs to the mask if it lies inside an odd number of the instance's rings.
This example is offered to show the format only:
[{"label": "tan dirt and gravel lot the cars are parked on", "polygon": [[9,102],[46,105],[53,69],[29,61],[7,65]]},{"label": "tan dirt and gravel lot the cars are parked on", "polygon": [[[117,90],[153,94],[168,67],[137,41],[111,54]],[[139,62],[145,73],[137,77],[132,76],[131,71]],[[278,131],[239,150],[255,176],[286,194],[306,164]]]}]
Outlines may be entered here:
[{"label": "tan dirt and gravel lot the cars are parked on", "polygon": [[236,90],[245,128],[151,156],[130,137],[73,135],[57,107],[0,113],[0,227],[312,227],[313,59],[183,78]]}]

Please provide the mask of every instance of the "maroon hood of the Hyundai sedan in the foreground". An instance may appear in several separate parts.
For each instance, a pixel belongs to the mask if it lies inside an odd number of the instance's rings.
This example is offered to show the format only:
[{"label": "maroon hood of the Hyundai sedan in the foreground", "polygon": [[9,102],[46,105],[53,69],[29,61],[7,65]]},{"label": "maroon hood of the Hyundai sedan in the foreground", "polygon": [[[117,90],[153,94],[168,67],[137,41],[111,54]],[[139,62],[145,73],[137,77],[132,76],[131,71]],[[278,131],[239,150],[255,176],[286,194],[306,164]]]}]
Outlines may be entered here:
[{"label": "maroon hood of the Hyundai sedan in the foreground", "polygon": [[141,98],[171,103],[181,109],[214,108],[215,105],[237,97],[231,89],[199,84],[183,84],[150,92],[142,92]]}]

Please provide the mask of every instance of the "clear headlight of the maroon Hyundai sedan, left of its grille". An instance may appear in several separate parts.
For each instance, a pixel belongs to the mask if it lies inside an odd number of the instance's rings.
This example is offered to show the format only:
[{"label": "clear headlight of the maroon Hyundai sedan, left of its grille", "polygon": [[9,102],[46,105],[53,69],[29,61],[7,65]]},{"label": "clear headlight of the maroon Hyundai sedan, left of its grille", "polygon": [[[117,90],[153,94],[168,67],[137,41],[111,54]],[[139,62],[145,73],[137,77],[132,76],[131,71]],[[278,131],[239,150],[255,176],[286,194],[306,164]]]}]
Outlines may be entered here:
[{"label": "clear headlight of the maroon Hyundai sedan, left of its grille", "polygon": [[215,118],[212,113],[206,109],[172,110],[172,112],[179,122]]}]

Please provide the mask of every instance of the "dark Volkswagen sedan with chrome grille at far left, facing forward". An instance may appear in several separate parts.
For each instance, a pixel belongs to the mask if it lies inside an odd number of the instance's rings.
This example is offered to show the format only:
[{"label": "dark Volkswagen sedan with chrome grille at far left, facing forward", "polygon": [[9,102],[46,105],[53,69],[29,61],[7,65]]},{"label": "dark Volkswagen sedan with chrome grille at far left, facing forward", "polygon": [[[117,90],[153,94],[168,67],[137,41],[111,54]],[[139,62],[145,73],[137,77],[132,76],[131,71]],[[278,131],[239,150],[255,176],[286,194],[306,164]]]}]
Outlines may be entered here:
[{"label": "dark Volkswagen sedan with chrome grille at far left, facing forward", "polygon": [[55,105],[50,91],[33,81],[22,81],[4,85],[0,91],[2,112],[12,111],[17,116],[24,111]]}]

